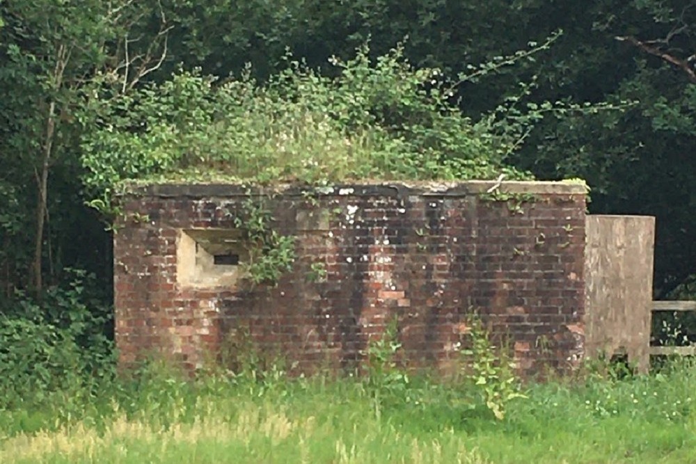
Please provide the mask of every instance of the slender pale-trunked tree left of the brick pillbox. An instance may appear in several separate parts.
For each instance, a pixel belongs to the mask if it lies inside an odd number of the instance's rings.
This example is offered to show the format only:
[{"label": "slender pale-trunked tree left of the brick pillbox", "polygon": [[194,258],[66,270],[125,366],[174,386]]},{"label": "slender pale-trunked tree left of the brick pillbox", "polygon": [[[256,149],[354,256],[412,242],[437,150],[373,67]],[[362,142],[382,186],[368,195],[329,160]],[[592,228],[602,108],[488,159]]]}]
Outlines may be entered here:
[{"label": "slender pale-trunked tree left of the brick pillbox", "polygon": [[[35,191],[31,284],[37,295],[44,287],[51,174],[61,170],[77,179],[79,136],[95,117],[84,111],[90,95],[126,93],[163,63],[171,26],[156,6],[132,0],[33,0],[1,7],[7,25],[0,29],[0,83],[10,98],[0,106],[7,122],[0,150],[15,154],[5,157],[12,177],[5,179],[4,189]],[[14,216],[3,222],[10,240],[13,235],[22,240],[11,233],[19,222],[31,223]]]}]

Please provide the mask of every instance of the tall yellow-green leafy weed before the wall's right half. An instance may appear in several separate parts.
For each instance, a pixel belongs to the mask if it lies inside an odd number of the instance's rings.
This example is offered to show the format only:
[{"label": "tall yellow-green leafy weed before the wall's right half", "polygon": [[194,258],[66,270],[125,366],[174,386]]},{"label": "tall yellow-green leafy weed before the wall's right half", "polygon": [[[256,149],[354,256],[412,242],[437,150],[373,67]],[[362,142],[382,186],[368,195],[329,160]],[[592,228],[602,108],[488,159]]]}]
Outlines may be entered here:
[{"label": "tall yellow-green leafy weed before the wall's right half", "polygon": [[466,325],[469,343],[461,354],[469,369],[468,374],[473,376],[473,385],[482,395],[487,408],[497,419],[502,420],[510,401],[526,398],[514,373],[514,362],[505,350],[493,346],[489,333],[484,330],[478,317],[468,318]]}]

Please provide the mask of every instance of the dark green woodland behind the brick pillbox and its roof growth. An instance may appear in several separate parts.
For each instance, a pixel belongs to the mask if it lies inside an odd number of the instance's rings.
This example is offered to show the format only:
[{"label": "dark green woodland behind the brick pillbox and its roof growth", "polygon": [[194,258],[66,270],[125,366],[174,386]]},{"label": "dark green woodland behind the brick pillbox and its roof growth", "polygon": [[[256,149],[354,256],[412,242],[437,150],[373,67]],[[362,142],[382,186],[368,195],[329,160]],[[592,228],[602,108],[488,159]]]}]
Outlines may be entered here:
[{"label": "dark green woodland behind the brick pillbox and its roof growth", "polygon": [[290,55],[331,77],[366,43],[372,57],[402,43],[463,118],[505,104],[519,143],[501,163],[585,179],[593,214],[656,216],[655,298],[696,293],[694,1],[6,0],[0,24],[5,340],[56,346],[49,323],[110,344],[112,232],[93,185],[130,165],[94,141],[132,128],[118,120],[134,102],[182,70],[262,86]]}]

